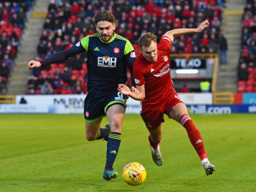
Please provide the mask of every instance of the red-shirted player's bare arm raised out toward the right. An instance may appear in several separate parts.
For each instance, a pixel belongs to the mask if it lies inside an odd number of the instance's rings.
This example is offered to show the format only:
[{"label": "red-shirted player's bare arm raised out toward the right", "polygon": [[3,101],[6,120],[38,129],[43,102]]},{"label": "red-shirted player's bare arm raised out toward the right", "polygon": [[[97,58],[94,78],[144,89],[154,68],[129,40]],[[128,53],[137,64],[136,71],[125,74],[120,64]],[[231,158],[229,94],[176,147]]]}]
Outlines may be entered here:
[{"label": "red-shirted player's bare arm raised out toward the right", "polygon": [[186,34],[193,34],[193,33],[201,33],[207,26],[209,22],[205,20],[204,22],[200,23],[197,28],[178,28],[167,31],[163,36],[167,36],[170,40],[173,41],[174,37],[179,37],[181,35]]}]

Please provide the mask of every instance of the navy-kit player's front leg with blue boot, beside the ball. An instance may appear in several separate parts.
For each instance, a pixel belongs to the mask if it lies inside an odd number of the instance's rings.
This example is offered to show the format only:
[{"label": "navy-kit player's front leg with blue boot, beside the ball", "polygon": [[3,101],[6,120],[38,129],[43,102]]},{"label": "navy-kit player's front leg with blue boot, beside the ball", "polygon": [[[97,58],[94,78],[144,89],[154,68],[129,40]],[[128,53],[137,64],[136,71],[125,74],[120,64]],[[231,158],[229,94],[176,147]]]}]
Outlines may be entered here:
[{"label": "navy-kit player's front leg with blue boot, beside the ball", "polygon": [[107,158],[103,179],[110,180],[118,177],[118,172],[113,170],[113,163],[116,160],[120,147],[122,135],[122,121],[125,114],[125,107],[120,103],[111,105],[107,109],[107,117],[110,122],[110,134],[107,142]]}]

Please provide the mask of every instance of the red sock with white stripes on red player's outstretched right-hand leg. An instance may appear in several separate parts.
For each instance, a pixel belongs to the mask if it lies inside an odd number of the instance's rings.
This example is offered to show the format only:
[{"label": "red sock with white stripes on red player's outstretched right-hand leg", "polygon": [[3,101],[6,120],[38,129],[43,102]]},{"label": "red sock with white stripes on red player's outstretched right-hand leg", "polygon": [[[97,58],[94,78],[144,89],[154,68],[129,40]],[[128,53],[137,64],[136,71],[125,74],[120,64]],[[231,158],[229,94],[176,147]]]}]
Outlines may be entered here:
[{"label": "red sock with white stripes on red player's outstretched right-hand leg", "polygon": [[200,132],[197,130],[189,115],[182,115],[180,118],[180,123],[187,130],[189,140],[193,145],[194,149],[196,150],[198,156],[201,158],[201,160],[207,158],[207,153],[205,152],[204,143],[200,135]]}]

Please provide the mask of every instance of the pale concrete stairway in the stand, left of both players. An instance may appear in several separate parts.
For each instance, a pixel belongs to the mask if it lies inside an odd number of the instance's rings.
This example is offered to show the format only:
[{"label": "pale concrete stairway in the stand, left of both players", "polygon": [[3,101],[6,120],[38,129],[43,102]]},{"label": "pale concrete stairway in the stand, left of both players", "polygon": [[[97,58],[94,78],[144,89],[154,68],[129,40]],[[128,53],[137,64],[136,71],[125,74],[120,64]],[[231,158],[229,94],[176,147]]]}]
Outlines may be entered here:
[{"label": "pale concrete stairway in the stand, left of both players", "polygon": [[26,94],[27,77],[31,71],[27,70],[27,63],[37,56],[37,45],[41,36],[42,26],[45,22],[47,8],[50,0],[37,0],[34,2],[30,16],[25,24],[25,29],[20,40],[17,58],[13,65],[9,85],[8,95]]}]

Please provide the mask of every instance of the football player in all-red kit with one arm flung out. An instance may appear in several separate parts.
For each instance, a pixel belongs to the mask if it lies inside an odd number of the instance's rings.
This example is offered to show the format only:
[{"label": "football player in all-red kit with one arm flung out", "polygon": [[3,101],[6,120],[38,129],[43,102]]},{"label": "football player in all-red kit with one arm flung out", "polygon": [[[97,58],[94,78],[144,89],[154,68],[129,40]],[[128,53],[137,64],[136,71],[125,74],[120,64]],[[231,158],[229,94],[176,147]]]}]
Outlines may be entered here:
[{"label": "football player in all-red kit with one arm flung out", "polygon": [[136,88],[140,92],[136,95],[124,84],[119,84],[118,87],[121,93],[142,101],[140,115],[150,133],[148,139],[155,164],[159,166],[163,164],[159,143],[162,139],[163,114],[166,114],[169,118],[181,123],[187,130],[189,139],[201,158],[207,175],[215,171],[215,166],[208,161],[200,132],[189,117],[186,105],[173,88],[169,54],[174,37],[201,33],[208,25],[209,22],[206,20],[197,28],[178,28],[167,31],[159,43],[155,35],[151,33],[142,35],[138,40],[141,53],[133,65]]}]

